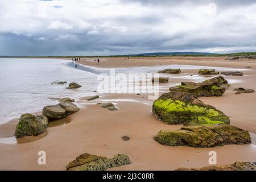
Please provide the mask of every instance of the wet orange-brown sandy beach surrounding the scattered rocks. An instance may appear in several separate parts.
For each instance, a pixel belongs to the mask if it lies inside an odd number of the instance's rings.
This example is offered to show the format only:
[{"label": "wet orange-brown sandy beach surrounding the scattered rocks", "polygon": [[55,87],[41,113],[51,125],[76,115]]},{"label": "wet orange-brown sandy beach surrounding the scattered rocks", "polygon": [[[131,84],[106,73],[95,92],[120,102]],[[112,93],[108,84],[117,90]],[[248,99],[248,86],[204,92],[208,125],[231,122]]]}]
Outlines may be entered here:
[{"label": "wet orange-brown sandy beach surrounding the scattered rocks", "polygon": [[[96,58],[95,58],[96,59]],[[234,88],[256,90],[256,61],[227,60],[227,57],[123,57],[102,58],[100,65],[94,58],[83,57],[78,63],[98,68],[152,67],[158,65],[200,65],[246,69],[243,76],[225,76],[235,79],[221,97],[200,97],[205,104],[223,111],[230,118],[230,125],[247,130],[251,144],[227,145],[214,148],[163,146],[153,138],[161,129],[180,129],[182,125],[167,125],[152,115],[152,103],[147,94],[100,94],[100,98],[76,101],[80,111],[59,121],[50,122],[46,133],[38,137],[24,137],[16,143],[14,136],[18,118],[0,125],[0,170],[65,170],[65,166],[80,154],[111,157],[127,154],[132,164],[109,170],[174,170],[179,167],[209,166],[209,151],[217,152],[218,164],[236,161],[256,161],[256,93],[234,94]],[[245,68],[251,67],[251,68]],[[181,70],[184,75],[196,75],[198,69]],[[172,78],[168,86],[191,81],[189,78]],[[114,102],[118,110],[109,111],[98,102]],[[43,107],[43,106],[42,106]],[[40,112],[35,114],[41,114]],[[127,135],[129,141],[121,137]],[[1,141],[3,141],[1,139]],[[27,142],[29,140],[34,140]],[[38,152],[46,151],[47,164],[38,165]]]}]

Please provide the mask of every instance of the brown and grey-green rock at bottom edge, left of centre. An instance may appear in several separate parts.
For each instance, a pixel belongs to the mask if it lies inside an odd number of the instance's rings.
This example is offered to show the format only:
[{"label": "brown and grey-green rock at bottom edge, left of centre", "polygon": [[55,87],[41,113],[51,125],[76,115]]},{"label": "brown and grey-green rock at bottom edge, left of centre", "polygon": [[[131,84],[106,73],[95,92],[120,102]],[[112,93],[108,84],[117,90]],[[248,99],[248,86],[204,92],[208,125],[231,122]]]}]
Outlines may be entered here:
[{"label": "brown and grey-green rock at bottom edge, left of centre", "polygon": [[108,159],[102,156],[81,154],[66,167],[68,171],[104,171],[108,168],[131,164],[129,156],[117,154]]}]

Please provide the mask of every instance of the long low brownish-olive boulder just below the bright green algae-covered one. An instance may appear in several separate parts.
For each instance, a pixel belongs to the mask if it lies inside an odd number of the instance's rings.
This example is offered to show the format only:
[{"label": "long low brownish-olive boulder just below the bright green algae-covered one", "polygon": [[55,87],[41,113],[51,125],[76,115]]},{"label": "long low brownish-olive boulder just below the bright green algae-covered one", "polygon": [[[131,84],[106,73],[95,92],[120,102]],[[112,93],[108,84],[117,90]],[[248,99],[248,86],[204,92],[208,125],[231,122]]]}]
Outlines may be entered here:
[{"label": "long low brownish-olive boulder just below the bright green algae-covered one", "polygon": [[215,147],[251,143],[248,131],[232,125],[197,125],[180,130],[160,130],[155,140],[167,146]]}]

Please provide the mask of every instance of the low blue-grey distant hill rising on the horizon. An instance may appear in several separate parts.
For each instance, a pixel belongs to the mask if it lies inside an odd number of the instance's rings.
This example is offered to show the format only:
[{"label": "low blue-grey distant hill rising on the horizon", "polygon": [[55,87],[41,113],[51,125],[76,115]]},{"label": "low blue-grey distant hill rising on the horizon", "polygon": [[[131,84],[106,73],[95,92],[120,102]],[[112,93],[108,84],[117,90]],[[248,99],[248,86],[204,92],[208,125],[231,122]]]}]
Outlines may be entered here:
[{"label": "low blue-grey distant hill rising on the horizon", "polygon": [[138,53],[126,56],[172,56],[172,55],[218,55],[217,53],[209,52],[151,52],[151,53]]}]

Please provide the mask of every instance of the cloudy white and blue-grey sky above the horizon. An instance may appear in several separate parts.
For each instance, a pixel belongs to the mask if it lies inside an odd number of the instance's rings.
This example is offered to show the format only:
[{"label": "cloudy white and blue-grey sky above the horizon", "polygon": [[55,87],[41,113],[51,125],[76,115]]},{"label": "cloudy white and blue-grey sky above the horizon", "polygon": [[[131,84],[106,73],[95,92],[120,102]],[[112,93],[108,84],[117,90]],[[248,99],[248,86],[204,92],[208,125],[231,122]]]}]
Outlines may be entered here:
[{"label": "cloudy white and blue-grey sky above the horizon", "polygon": [[256,1],[0,1],[0,56],[256,51]]}]

